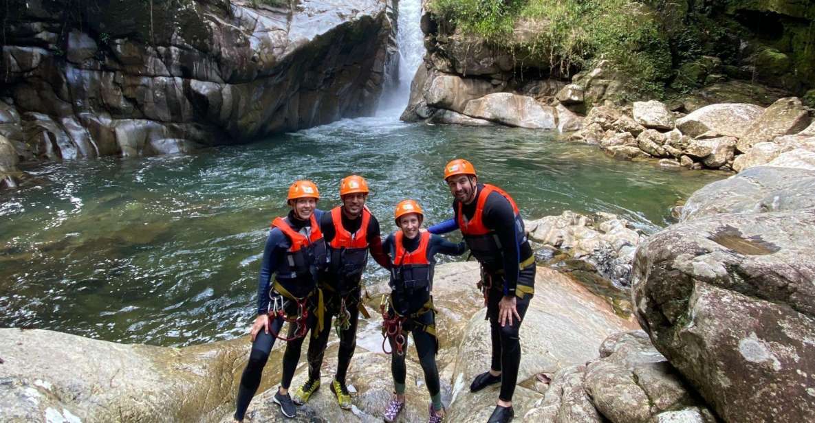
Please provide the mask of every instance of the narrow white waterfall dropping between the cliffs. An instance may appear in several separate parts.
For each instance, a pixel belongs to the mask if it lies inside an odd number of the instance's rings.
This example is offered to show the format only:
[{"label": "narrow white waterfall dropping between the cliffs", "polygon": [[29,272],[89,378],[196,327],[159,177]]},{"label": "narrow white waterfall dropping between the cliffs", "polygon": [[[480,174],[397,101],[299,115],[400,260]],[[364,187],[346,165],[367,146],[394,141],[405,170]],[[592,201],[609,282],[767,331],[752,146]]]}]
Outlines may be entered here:
[{"label": "narrow white waterfall dropping between the cliffs", "polygon": [[421,32],[421,0],[399,0],[396,43],[399,46],[399,80],[382,93],[381,116],[399,116],[410,97],[410,83],[425,57],[425,34]]}]

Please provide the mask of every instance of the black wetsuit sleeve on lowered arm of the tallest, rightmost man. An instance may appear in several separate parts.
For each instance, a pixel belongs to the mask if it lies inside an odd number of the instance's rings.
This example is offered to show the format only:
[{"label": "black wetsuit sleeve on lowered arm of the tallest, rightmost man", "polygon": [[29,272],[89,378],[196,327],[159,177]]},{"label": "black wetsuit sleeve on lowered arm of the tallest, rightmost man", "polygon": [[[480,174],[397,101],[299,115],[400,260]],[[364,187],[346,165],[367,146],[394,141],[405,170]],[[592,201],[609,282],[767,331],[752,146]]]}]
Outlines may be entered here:
[{"label": "black wetsuit sleeve on lowered arm of the tallest, rightmost man", "polygon": [[504,295],[514,295],[518,286],[521,253],[515,233],[515,211],[503,195],[490,193],[484,204],[484,225],[496,231],[501,250],[504,251]]}]

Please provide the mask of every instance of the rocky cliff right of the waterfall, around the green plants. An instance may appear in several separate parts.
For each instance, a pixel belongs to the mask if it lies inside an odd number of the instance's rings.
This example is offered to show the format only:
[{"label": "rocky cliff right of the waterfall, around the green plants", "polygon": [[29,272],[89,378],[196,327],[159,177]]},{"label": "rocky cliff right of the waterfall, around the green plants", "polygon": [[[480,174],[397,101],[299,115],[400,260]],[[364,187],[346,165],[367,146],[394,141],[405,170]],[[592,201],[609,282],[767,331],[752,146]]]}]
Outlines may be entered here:
[{"label": "rocky cliff right of the waterfall, around the green plants", "polygon": [[[510,6],[491,4],[500,13],[484,12],[485,26],[501,13],[513,13]],[[632,46],[632,54],[647,51],[663,57],[660,63],[670,62],[653,81],[638,81],[630,74],[637,69],[627,71],[602,55],[590,57],[588,50],[581,58],[583,69],[574,63],[557,66],[562,59],[557,47],[548,60],[540,59],[545,53],[525,54],[530,48],[543,48],[536,37],[553,25],[545,19],[518,17],[509,39],[496,45],[456,25],[456,20],[473,20],[472,16],[428,12],[422,18],[425,67],[416,73],[403,120],[498,123],[565,132],[581,127],[574,112],[584,114],[606,100],[629,102],[665,94],[676,102],[672,110],[689,112],[716,102],[769,106],[796,94],[815,105],[815,8],[809,2],[632,4],[637,7],[619,13],[640,14],[633,20],[655,28],[649,36],[654,42]]]}]

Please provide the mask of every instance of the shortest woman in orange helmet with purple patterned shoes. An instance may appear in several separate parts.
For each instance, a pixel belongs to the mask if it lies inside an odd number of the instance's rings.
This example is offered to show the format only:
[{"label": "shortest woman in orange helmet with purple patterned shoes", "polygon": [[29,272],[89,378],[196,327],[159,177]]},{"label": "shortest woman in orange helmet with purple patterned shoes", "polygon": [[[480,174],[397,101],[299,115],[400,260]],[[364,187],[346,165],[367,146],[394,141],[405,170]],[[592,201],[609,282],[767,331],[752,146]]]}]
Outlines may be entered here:
[{"label": "shortest woman in orange helmet with purple patterned shoes", "polygon": [[[383,334],[390,342],[391,373],[396,395],[385,408],[385,421],[396,421],[405,405],[405,351],[407,334],[413,335],[419,363],[430,392],[430,423],[444,418],[436,366],[438,338],[435,331],[433,268],[435,255],[462,255],[467,246],[446,241],[421,229],[425,214],[419,203],[403,200],[396,205],[394,219],[399,230],[385,239],[390,256],[390,297],[381,305]],[[384,343],[384,341],[383,341]]]}]

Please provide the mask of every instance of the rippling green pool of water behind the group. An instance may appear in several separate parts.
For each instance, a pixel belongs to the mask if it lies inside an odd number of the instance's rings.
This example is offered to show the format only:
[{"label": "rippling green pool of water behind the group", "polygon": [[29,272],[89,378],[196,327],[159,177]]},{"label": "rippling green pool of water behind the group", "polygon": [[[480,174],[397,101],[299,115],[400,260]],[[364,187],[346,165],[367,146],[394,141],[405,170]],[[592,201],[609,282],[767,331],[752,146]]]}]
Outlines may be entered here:
[{"label": "rippling green pool of water behind the group", "polygon": [[[341,177],[368,179],[383,232],[397,201],[426,221],[451,215],[443,164],[471,160],[527,219],[613,212],[646,233],[669,207],[722,173],[610,159],[551,133],[504,127],[342,120],[192,155],[97,159],[32,172],[42,185],[0,194],[0,326],[117,342],[187,345],[245,334],[268,225],[298,178],[337,204]],[[371,283],[384,273],[369,266]]]}]

